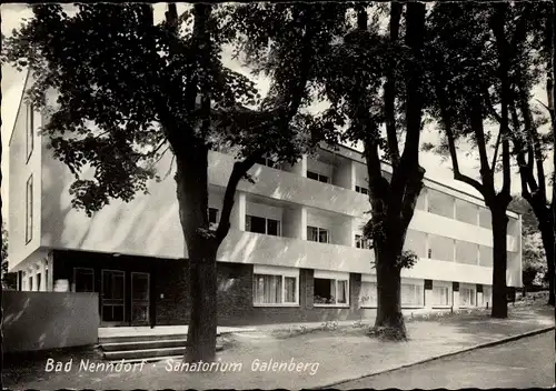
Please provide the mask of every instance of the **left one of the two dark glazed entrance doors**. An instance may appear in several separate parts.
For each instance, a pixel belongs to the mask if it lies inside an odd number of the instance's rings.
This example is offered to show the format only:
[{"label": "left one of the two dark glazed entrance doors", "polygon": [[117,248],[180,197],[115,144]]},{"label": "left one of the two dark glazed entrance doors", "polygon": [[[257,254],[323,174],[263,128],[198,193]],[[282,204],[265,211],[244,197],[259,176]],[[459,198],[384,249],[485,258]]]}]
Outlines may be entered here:
[{"label": "left one of the two dark glazed entrance doors", "polygon": [[126,321],[126,274],[121,270],[102,270],[101,320],[105,325]]}]

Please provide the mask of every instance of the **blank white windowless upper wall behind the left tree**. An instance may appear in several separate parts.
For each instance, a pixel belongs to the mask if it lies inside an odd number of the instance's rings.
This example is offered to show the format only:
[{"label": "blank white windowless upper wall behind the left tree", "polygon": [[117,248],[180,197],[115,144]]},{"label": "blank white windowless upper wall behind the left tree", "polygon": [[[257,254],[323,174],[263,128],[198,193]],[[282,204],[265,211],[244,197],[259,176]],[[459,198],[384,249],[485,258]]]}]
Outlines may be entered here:
[{"label": "blank white windowless upper wall behind the left tree", "polygon": [[[163,176],[171,167],[167,153],[158,163]],[[90,176],[92,170],[85,172]],[[69,169],[44,150],[42,159],[42,240],[47,248],[101,251],[162,258],[183,258],[173,169],[160,183],[151,181],[149,194],[137,193],[130,202],[110,201],[87,217],[71,207]]]}]

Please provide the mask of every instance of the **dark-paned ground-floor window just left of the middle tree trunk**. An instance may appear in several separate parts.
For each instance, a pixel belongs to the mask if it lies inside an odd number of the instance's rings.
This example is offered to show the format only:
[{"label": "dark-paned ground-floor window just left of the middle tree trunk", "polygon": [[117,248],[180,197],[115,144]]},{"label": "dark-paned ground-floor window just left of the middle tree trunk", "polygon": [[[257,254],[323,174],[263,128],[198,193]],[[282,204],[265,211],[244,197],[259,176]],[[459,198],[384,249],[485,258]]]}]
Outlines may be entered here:
[{"label": "dark-paned ground-floor window just left of the middle tree trunk", "polygon": [[[335,274],[335,275],[332,275]],[[319,273],[314,278],[315,304],[348,304],[349,274]]]}]

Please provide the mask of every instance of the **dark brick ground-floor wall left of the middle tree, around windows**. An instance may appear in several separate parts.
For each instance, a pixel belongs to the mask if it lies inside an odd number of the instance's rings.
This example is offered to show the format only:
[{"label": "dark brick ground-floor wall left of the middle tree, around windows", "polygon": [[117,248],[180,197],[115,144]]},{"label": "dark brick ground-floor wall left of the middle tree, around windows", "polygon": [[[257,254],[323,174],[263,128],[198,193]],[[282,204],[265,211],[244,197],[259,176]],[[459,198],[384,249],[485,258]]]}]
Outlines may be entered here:
[{"label": "dark brick ground-floor wall left of the middle tree, around windows", "polygon": [[[96,272],[96,291],[100,291],[100,270],[150,272],[151,315],[157,325],[189,322],[189,275],[187,260],[162,260],[110,254],[63,252],[54,257],[54,279],[72,279],[73,267],[91,267]],[[315,307],[314,270],[300,269],[298,307],[254,307],[252,264],[218,262],[218,324],[249,325],[267,323],[320,322],[371,318],[375,309],[361,309],[361,275],[350,273],[349,308]],[[71,282],[71,281],[70,281]]]}]

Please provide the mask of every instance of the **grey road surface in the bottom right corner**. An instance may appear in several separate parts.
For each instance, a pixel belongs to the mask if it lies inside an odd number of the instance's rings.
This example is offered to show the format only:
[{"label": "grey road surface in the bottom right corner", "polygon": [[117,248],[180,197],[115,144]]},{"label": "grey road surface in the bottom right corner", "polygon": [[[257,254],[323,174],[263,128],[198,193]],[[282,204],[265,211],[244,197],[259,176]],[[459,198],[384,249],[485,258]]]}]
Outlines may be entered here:
[{"label": "grey road surface in the bottom right corner", "polygon": [[555,382],[554,338],[554,331],[545,332],[350,381],[335,388],[340,390],[549,388]]}]

